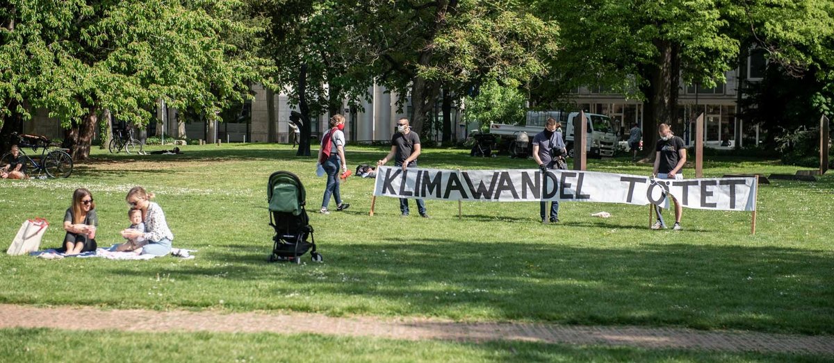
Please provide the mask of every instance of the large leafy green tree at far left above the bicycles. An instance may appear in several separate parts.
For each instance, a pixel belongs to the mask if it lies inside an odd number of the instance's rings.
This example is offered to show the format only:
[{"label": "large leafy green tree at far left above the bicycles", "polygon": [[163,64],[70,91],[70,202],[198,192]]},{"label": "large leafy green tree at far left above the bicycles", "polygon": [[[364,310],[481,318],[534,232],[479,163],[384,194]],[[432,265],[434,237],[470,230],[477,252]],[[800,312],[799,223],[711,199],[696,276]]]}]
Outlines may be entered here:
[{"label": "large leafy green tree at far left above the bicycles", "polygon": [[165,99],[214,120],[220,109],[247,96],[249,82],[264,81],[259,70],[266,63],[229,40],[254,36],[255,29],[232,20],[238,2],[12,3],[15,11],[4,15],[16,25],[4,34],[0,59],[31,61],[4,69],[17,92],[0,96],[28,102],[32,108],[19,109],[26,117],[35,107],[57,117],[70,130],[77,159],[88,157],[104,109],[143,125],[152,118],[148,108]]}]

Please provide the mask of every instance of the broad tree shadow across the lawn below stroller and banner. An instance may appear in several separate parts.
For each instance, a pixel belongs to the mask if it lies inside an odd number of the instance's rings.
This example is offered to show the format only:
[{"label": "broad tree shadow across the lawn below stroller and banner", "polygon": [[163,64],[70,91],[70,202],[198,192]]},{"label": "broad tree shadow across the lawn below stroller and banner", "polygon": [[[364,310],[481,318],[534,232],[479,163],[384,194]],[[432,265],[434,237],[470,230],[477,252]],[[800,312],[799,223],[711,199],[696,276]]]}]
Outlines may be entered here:
[{"label": "broad tree shadow across the lawn below stroller and banner", "polygon": [[[319,241],[325,263],[306,255],[306,265],[297,266],[269,264],[271,241],[225,246],[203,256],[234,267],[183,264],[161,272],[178,281],[224,276],[238,287],[270,284],[260,295],[240,296],[243,306],[263,299],[277,308],[330,313],[834,333],[834,258],[828,252],[390,237],[373,244]],[[109,272],[130,273],[118,266]],[[328,297],[315,308],[274,300],[291,291]],[[234,306],[234,296],[223,298]]]}]

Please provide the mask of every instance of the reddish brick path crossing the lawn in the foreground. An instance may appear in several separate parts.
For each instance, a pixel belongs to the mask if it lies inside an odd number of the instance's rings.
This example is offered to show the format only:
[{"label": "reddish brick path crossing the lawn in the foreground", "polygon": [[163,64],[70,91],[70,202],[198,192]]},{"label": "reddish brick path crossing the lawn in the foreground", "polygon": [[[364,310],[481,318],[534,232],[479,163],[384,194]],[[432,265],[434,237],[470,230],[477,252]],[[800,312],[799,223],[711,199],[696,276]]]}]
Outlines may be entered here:
[{"label": "reddish brick path crossing the lawn in the foreground", "polygon": [[[71,313],[73,318],[64,316]],[[63,330],[217,331],[315,333],[404,340],[537,341],[577,345],[638,346],[711,351],[794,352],[834,355],[834,336],[795,336],[741,331],[695,331],[636,326],[560,326],[540,323],[443,321],[374,316],[216,311],[98,310],[0,304],[0,328]]]}]

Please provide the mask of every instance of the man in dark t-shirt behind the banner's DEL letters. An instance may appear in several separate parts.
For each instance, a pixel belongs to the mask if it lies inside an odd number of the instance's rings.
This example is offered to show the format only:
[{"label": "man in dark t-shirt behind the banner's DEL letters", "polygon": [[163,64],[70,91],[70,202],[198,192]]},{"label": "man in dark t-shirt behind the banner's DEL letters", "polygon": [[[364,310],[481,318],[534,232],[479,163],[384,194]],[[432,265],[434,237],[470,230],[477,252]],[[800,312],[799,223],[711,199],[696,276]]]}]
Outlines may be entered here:
[{"label": "man in dark t-shirt behind the banner's DEL letters", "polygon": [[[548,169],[557,169],[558,158],[567,154],[565,150],[565,141],[562,140],[561,132],[557,132],[556,128],[558,122],[553,117],[547,119],[545,122],[545,130],[539,132],[533,137],[533,159],[539,165],[542,173],[547,172]],[[548,219],[545,216],[546,201],[540,201],[539,215],[541,222],[547,223]],[[559,222],[559,201],[554,200],[550,203],[550,223]]]}]

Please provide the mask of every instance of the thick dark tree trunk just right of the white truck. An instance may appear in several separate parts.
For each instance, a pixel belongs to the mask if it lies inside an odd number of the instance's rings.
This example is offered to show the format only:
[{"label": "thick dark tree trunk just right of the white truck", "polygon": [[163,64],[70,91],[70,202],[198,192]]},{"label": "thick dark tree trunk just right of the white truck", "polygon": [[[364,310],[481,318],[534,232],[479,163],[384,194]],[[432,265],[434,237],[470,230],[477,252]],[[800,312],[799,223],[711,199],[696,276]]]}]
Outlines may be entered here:
[{"label": "thick dark tree trunk just right of the white truck", "polygon": [[[678,46],[665,40],[656,40],[655,46],[660,52],[656,64],[646,68],[648,87],[643,88],[646,101],[643,103],[643,151],[646,159],[654,160],[657,142],[657,126],[661,123],[678,124],[677,100],[680,83],[681,61]],[[673,127],[672,132],[681,135],[680,126]]]}]

